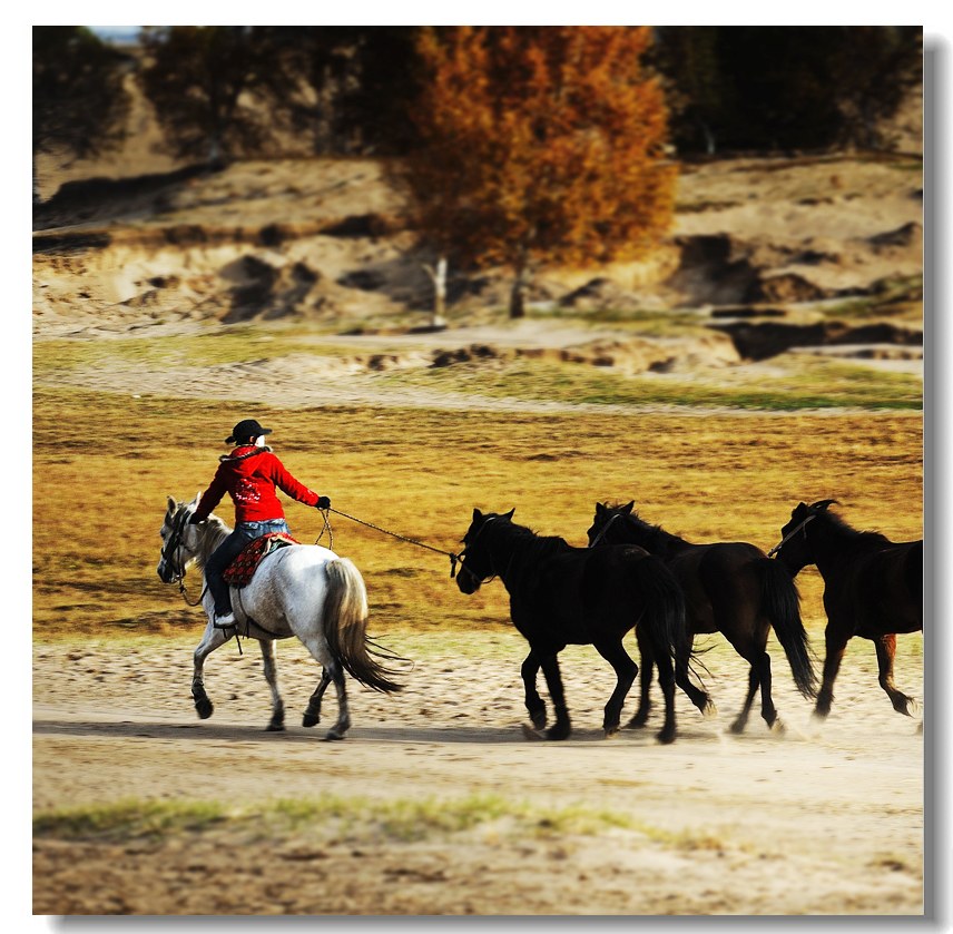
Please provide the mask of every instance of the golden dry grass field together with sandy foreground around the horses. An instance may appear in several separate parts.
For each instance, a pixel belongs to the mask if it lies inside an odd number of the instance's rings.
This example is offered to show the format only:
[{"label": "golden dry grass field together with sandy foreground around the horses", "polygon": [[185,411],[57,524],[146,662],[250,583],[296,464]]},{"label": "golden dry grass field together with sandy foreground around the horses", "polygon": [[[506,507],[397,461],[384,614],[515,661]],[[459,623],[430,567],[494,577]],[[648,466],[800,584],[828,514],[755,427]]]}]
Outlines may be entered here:
[{"label": "golden dry grass field together with sandy foreground around the horses", "polygon": [[[238,413],[273,426],[286,465],[335,508],[449,551],[473,507],[515,507],[540,533],[583,544],[596,501],[629,499],[696,541],[768,549],[799,500],[827,497],[862,528],[915,538],[918,413],[249,407],[174,390],[36,391],[36,913],[922,911],[923,738],[891,710],[868,643],[851,643],[821,727],[772,638],[787,731],[755,712],[730,737],[746,668],[707,639],[720,712],[703,720],[679,697],[671,747],[654,729],[601,739],[611,672],[570,647],[573,737],[528,744],[524,643],[502,587],[463,597],[446,559],[336,517],[372,633],[414,668],[396,697],[352,687],[354,728],[328,745],[294,714],[317,676],[297,643],[278,653],[286,734],[263,731],[267,690],[247,642],[209,659],[216,714],[198,721],[188,684],[203,622],[155,573],[166,495],[204,488]],[[76,424],[81,436],[63,431]],[[316,538],[316,512],[286,512],[302,541]],[[818,578],[807,570],[799,586],[823,651]],[[897,681],[922,697],[922,638],[898,641]]]}]

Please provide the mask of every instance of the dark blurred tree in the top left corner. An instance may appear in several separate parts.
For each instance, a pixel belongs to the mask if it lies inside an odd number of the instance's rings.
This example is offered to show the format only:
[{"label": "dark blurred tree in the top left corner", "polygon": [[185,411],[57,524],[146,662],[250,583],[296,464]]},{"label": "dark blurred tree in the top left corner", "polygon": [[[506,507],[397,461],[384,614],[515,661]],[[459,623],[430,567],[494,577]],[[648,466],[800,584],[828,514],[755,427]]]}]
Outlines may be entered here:
[{"label": "dark blurred tree in the top left corner", "polygon": [[79,26],[33,27],[33,156],[96,156],[125,139],[129,59]]}]

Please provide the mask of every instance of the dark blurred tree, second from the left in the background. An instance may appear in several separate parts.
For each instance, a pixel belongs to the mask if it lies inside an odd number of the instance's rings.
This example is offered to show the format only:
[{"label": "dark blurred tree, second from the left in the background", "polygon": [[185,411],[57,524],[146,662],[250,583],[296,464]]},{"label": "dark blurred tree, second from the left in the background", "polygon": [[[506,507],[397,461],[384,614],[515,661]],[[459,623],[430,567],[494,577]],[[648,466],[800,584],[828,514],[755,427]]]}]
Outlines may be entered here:
[{"label": "dark blurred tree, second from the left in the background", "polygon": [[259,154],[289,94],[263,27],[173,26],[143,31],[146,97],[179,158],[217,163]]}]

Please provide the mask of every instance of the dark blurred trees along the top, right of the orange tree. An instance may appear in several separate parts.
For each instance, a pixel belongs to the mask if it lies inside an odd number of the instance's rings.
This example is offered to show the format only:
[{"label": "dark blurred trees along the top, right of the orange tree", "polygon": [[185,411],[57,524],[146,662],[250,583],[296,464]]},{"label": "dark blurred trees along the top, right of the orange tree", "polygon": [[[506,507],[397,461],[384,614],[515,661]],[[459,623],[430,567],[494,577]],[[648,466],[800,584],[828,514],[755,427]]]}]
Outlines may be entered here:
[{"label": "dark blurred trees along the top, right of the orange tree", "polygon": [[922,80],[920,27],[662,27],[680,151],[877,147]]}]

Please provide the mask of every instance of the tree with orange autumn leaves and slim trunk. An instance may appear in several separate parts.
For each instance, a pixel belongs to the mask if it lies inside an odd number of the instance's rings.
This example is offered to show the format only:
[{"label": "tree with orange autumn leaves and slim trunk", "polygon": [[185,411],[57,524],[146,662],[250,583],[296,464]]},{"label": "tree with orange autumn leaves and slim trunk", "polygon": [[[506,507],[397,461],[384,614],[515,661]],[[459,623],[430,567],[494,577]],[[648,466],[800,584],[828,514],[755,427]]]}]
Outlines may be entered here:
[{"label": "tree with orange autumn leaves and slim trunk", "polygon": [[507,265],[510,314],[533,269],[643,255],[668,229],[661,87],[640,65],[647,27],[421,31],[419,148],[403,177],[441,257]]}]

